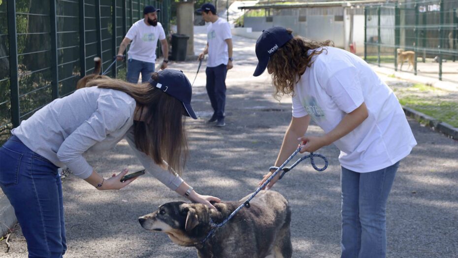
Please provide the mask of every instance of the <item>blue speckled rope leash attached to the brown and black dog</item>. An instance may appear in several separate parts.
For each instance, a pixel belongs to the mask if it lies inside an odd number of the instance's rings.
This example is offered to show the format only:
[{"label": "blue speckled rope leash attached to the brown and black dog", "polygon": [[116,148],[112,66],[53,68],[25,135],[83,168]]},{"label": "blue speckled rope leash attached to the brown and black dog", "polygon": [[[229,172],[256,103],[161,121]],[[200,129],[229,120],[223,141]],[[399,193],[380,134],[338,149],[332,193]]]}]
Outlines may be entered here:
[{"label": "blue speckled rope leash attached to the brown and black dog", "polygon": [[[222,223],[216,224],[216,223],[214,223],[214,222],[211,220],[211,218],[210,218],[210,223],[212,224],[211,229],[210,229],[210,231],[208,232],[207,236],[200,242],[200,244],[205,243],[205,241],[207,241],[208,238],[210,238],[210,236],[213,234],[213,232],[215,231],[216,228],[222,227],[222,226],[224,226],[226,223],[228,223],[229,220],[232,219],[232,217],[234,217],[235,214],[237,214],[237,212],[239,212],[243,207],[250,208],[250,201],[251,201],[251,199],[253,199],[253,198],[256,196],[256,194],[258,194],[258,193],[261,191],[261,189],[263,189],[268,183],[270,183],[270,181],[272,180],[272,178],[274,178],[274,177],[278,174],[278,172],[283,171],[283,173],[280,175],[280,178],[278,179],[278,180],[280,180],[280,179],[283,178],[283,176],[285,175],[286,172],[288,172],[288,171],[290,171],[291,169],[293,169],[300,161],[303,161],[303,160],[308,159],[308,158],[310,158],[310,163],[312,163],[312,166],[313,166],[313,168],[314,168],[315,170],[317,170],[317,171],[323,171],[323,170],[325,170],[325,169],[327,168],[328,162],[327,162],[326,157],[323,156],[323,155],[320,155],[320,154],[314,154],[313,152],[311,152],[309,155],[306,155],[306,156],[304,156],[304,157],[298,159],[296,162],[294,162],[293,165],[291,165],[291,166],[289,166],[289,167],[285,167],[285,165],[286,165],[288,162],[290,162],[290,161],[294,158],[294,156],[295,156],[297,153],[299,153],[299,151],[300,151],[300,149],[301,149],[302,147],[303,147],[303,145],[299,146],[299,148],[297,148],[297,150],[295,150],[294,153],[291,154],[291,156],[290,156],[285,162],[283,162],[283,164],[282,164],[281,166],[279,166],[279,167],[271,166],[271,167],[269,168],[269,170],[275,168],[275,169],[276,169],[275,172],[274,172],[274,173],[273,173],[273,174],[272,174],[272,175],[262,184],[262,186],[260,186],[260,187],[256,190],[256,192],[254,192],[253,194],[251,194],[251,196],[250,196],[246,201],[244,201],[240,206],[238,206],[237,209],[235,209],[235,210],[229,215],[229,217],[228,217],[227,219],[225,219]],[[322,168],[317,167],[317,166],[315,165],[315,161],[313,160],[313,157],[322,158],[322,159],[325,161],[325,166],[323,166]]]}]

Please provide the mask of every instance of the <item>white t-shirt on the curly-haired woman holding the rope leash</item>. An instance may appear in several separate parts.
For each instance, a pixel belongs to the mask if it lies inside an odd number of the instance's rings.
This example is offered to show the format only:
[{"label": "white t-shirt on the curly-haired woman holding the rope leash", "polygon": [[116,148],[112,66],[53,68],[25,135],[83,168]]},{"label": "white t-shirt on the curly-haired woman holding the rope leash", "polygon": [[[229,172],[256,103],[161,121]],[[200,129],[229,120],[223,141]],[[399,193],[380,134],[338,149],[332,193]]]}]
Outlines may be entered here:
[{"label": "white t-shirt on the curly-haired woman holding the rope leash", "polygon": [[334,142],[343,167],[371,172],[409,155],[417,141],[402,107],[366,62],[333,47],[325,47],[313,61],[294,86],[293,117],[309,114],[328,133],[362,102],[369,113],[360,126]]}]

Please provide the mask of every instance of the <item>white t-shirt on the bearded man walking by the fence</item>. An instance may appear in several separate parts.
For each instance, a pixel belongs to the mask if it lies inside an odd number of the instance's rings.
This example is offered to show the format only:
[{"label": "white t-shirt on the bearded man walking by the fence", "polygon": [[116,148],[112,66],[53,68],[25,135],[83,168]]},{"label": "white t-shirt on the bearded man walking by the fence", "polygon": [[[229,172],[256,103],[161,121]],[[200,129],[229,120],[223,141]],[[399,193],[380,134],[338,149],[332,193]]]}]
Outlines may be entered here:
[{"label": "white t-shirt on the bearded man walking by the fence", "polygon": [[129,58],[155,63],[158,39],[165,39],[165,32],[160,22],[155,27],[146,25],[144,19],[141,19],[132,25],[126,37],[132,40],[131,47],[127,52]]}]

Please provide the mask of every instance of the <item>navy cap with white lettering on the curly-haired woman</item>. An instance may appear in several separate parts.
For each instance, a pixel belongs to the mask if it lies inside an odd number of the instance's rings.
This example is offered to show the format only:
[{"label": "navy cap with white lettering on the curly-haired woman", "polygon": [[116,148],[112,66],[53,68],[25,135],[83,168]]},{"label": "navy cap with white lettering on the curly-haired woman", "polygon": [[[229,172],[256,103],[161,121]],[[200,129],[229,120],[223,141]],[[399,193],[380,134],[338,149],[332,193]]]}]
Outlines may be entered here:
[{"label": "navy cap with white lettering on the curly-haired woman", "polygon": [[256,41],[258,66],[256,66],[253,76],[260,76],[264,72],[265,67],[267,67],[270,57],[293,37],[293,34],[289,34],[283,27],[272,27],[263,30],[258,41]]}]

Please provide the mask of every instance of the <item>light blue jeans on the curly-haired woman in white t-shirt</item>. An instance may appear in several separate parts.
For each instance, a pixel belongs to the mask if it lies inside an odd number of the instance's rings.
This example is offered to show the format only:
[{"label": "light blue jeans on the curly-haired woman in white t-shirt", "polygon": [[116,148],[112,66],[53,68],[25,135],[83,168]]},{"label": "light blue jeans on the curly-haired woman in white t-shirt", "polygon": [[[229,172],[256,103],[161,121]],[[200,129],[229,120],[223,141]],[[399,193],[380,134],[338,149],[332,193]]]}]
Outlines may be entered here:
[{"label": "light blue jeans on the curly-haired woman in white t-shirt", "polygon": [[342,167],[341,258],[384,258],[386,204],[399,161],[368,173]]}]

